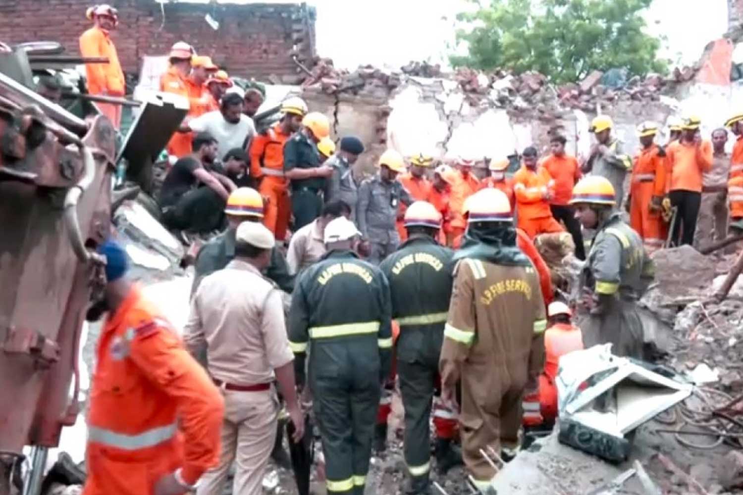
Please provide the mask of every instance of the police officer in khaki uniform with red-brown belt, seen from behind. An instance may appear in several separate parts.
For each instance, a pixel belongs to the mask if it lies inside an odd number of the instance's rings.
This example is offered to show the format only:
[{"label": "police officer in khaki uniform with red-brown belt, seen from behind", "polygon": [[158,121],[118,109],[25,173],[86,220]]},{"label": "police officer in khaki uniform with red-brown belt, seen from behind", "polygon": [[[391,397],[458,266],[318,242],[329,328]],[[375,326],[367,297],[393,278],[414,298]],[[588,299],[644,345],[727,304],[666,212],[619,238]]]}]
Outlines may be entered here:
[{"label": "police officer in khaki uniform with red-brown belt, seen from behind", "polygon": [[202,477],[198,495],[220,495],[235,460],[233,493],[263,493],[279,416],[274,379],[296,428],[295,441],[302,437],[281,290],[261,273],[274,243],[262,223],[241,223],[235,258],[204,278],[192,300],[184,340],[194,355],[207,349],[209,374],[225,402],[220,461]]}]

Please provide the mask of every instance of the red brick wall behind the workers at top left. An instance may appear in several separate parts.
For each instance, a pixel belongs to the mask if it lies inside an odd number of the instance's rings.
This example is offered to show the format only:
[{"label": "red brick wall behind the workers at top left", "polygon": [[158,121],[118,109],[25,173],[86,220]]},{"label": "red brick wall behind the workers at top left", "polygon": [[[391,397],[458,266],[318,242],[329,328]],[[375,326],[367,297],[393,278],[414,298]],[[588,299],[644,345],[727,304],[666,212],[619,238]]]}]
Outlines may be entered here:
[{"label": "red brick wall behind the workers at top left", "polygon": [[[2,0],[0,41],[61,42],[78,54],[78,38],[91,26],[85,9],[92,0]],[[109,0],[119,10],[112,38],[124,71],[137,73],[145,55],[167,53],[180,40],[209,55],[235,76],[296,82],[299,69],[291,56],[311,65],[316,13],[307,4],[160,4],[153,0]],[[210,14],[220,25],[213,30]],[[295,49],[296,47],[296,49]]]}]

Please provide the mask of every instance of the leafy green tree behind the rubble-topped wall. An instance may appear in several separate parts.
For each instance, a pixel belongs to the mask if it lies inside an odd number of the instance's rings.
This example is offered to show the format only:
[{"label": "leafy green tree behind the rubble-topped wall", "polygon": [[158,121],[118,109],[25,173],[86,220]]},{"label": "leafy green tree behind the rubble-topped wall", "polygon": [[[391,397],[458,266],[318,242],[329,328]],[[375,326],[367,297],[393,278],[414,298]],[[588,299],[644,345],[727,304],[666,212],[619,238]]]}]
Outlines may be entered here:
[{"label": "leafy green tree behind the rubble-topped wall", "polygon": [[627,68],[631,75],[665,73],[661,41],[644,32],[652,0],[470,0],[457,16],[457,42],[467,55],[455,67],[539,71],[553,82],[577,81],[594,70]]}]

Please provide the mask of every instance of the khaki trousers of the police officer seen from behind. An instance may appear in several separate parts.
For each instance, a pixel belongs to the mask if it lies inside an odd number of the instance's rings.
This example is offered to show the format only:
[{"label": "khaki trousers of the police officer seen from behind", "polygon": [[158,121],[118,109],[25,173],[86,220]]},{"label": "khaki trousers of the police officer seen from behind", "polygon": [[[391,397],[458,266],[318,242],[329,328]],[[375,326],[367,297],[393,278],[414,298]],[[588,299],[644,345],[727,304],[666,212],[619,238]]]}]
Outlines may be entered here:
[{"label": "khaki trousers of the police officer seen from behind", "polygon": [[219,464],[201,476],[197,495],[221,495],[230,465],[236,462],[232,493],[262,495],[263,475],[276,440],[276,391],[224,390],[224,423]]}]

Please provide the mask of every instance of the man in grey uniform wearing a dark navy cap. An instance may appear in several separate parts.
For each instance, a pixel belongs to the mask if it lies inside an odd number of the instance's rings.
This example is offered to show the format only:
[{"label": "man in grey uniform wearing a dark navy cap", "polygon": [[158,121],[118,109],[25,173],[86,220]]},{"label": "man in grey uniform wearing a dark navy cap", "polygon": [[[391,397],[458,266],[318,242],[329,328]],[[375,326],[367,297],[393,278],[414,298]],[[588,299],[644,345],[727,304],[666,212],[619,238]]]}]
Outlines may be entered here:
[{"label": "man in grey uniform wearing a dark navy cap", "polygon": [[341,200],[351,207],[350,220],[356,223],[358,185],[354,179],[354,163],[364,152],[363,142],[358,137],[346,136],[340,140],[338,151],[325,162],[333,167],[333,175],[325,188],[325,204]]}]

